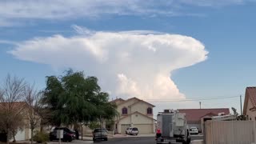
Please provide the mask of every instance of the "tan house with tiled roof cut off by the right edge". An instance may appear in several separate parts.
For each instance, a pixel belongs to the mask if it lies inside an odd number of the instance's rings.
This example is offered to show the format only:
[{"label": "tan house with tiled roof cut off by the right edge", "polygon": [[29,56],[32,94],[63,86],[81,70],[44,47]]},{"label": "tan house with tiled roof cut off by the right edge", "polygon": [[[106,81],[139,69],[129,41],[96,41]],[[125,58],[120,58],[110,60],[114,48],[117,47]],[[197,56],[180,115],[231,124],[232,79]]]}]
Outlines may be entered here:
[{"label": "tan house with tiled roof cut off by the right edge", "polygon": [[248,120],[256,120],[256,87],[246,87],[243,114],[247,116]]}]

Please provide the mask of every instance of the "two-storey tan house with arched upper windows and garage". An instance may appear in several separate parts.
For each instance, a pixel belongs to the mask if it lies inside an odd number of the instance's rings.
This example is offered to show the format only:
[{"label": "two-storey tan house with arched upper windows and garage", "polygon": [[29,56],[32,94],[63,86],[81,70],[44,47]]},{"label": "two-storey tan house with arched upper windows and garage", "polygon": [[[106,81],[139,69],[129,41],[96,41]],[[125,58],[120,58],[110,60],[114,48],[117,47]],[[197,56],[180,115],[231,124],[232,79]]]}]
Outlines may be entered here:
[{"label": "two-storey tan house with arched upper windows and garage", "polygon": [[138,127],[140,134],[152,134],[155,131],[153,118],[154,105],[138,98],[115,99],[119,116],[115,119],[114,130],[118,134],[126,133],[130,126]]}]

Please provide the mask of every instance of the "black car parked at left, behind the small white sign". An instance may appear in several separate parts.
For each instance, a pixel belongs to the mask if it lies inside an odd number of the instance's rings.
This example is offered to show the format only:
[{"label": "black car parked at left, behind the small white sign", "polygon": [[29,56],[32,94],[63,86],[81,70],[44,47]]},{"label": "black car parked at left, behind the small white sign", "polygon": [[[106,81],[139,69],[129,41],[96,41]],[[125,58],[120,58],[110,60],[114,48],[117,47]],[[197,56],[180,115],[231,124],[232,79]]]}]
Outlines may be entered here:
[{"label": "black car parked at left, behind the small white sign", "polygon": [[56,127],[50,132],[50,141],[58,140],[57,130],[63,130],[63,138],[61,139],[63,142],[72,142],[75,139],[74,130],[70,130],[67,127]]}]

